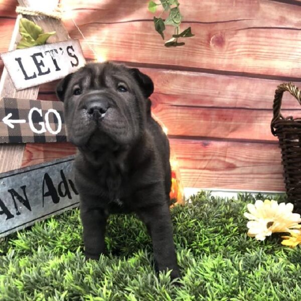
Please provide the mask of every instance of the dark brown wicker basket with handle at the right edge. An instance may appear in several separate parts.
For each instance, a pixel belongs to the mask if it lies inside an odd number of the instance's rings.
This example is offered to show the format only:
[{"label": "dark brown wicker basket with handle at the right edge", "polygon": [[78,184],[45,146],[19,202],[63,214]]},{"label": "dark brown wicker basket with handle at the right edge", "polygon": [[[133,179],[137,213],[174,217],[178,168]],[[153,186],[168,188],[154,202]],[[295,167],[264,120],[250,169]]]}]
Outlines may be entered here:
[{"label": "dark brown wicker basket with handle at the right edge", "polygon": [[279,85],[275,91],[271,131],[279,139],[288,201],[294,204],[294,212],[301,213],[301,118],[281,115],[284,91],[288,91],[301,104],[301,92],[296,86],[292,83]]}]

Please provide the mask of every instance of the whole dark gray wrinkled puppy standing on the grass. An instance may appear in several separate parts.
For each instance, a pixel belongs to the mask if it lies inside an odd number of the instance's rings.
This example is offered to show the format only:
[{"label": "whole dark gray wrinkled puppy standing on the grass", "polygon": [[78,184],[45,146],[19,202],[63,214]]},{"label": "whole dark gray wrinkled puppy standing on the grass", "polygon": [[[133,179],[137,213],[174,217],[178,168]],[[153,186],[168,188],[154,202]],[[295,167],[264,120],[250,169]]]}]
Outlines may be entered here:
[{"label": "whole dark gray wrinkled puppy standing on the grass", "polygon": [[152,236],[159,270],[179,276],[169,211],[169,142],[150,115],[153,81],[138,69],[88,64],[57,87],[68,137],[79,152],[75,182],[80,194],[85,255],[98,259],[111,213],[135,213]]}]

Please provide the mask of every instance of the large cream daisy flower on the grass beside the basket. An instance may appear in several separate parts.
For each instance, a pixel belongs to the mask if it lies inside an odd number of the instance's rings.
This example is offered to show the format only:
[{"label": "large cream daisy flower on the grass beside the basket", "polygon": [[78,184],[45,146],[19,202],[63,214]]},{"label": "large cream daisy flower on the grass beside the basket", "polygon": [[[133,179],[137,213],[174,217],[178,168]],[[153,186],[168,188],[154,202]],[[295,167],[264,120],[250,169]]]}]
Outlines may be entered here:
[{"label": "large cream daisy flower on the grass beside the basket", "polygon": [[[278,204],[274,200],[256,200],[255,204],[247,205],[248,211],[244,216],[250,221],[248,235],[257,240],[264,240],[266,236],[274,232],[290,232],[291,229],[301,228],[300,215],[292,213],[291,203]],[[297,230],[293,230],[297,231]]]}]

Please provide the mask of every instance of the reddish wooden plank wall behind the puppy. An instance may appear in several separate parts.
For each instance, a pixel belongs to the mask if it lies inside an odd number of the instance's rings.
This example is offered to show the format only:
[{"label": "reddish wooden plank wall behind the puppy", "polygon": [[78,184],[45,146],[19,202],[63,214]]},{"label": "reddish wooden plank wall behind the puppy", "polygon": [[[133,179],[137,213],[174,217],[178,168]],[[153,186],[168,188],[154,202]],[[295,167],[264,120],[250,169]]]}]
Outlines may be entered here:
[{"label": "reddish wooden plank wall behind the puppy", "polygon": [[[90,45],[97,56],[153,78],[153,112],[169,129],[185,187],[283,191],[280,150],[269,124],[276,86],[293,81],[301,87],[301,1],[180,3],[183,27],[196,36],[171,49],[154,31],[147,1],[61,0],[66,28],[81,40],[87,60],[95,59]],[[9,45],[15,7],[0,0],[1,52]],[[41,86],[39,99],[54,100],[55,84]],[[282,112],[301,117],[289,95]],[[23,166],[72,153],[68,143],[27,144]]]}]

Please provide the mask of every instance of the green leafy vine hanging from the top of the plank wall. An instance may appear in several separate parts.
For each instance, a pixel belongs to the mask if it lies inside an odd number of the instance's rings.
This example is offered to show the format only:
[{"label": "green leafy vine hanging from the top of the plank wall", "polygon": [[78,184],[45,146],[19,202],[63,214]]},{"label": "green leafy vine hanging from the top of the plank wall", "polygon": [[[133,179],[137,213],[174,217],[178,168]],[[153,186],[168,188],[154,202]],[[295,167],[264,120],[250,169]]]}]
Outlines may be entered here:
[{"label": "green leafy vine hanging from the top of the plank wall", "polygon": [[[188,27],[183,32],[180,32],[180,25],[182,22],[182,15],[180,13],[180,3],[178,0],[160,0],[160,3],[157,4],[154,1],[150,1],[148,3],[148,10],[151,13],[156,13],[157,7],[162,6],[163,12],[160,14],[159,18],[154,17],[154,24],[155,24],[155,30],[161,35],[162,39],[164,40],[164,31],[165,26],[170,25],[175,27],[175,34],[173,37],[165,42],[166,47],[177,47],[177,46],[183,46],[185,45],[184,42],[178,42],[179,38],[190,38],[194,35],[191,32],[191,27]],[[168,17],[166,20],[163,20],[161,16],[164,13],[168,13]]]}]

